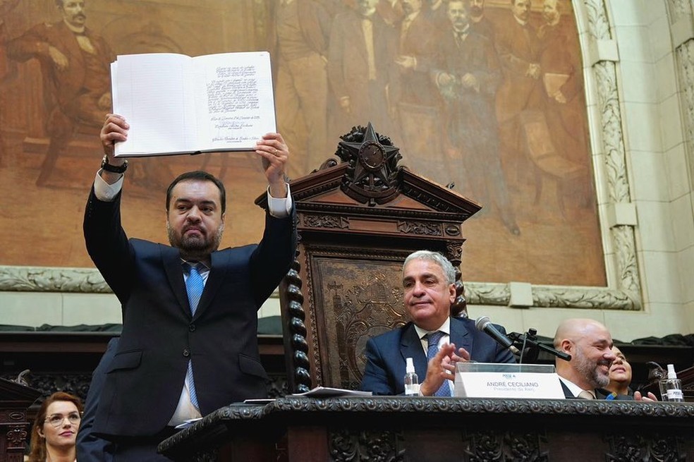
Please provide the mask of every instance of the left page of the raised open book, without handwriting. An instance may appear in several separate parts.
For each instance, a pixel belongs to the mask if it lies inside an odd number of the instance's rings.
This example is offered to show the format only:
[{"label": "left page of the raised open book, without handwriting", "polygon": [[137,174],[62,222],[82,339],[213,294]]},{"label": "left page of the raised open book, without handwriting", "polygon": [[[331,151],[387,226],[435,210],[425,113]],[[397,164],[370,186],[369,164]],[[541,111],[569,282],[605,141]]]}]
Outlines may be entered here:
[{"label": "left page of the raised open book, without handwriting", "polygon": [[189,62],[172,53],[118,56],[111,67],[114,113],[130,130],[126,142],[116,143],[116,156],[195,150],[195,125],[188,120],[195,118],[194,96],[184,90]]}]

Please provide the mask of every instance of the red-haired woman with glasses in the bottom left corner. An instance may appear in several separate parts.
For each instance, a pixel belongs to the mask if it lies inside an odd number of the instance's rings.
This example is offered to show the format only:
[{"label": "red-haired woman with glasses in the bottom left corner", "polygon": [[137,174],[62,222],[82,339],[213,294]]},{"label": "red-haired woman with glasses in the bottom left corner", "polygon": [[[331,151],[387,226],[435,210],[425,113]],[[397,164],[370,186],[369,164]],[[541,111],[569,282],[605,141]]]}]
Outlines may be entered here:
[{"label": "red-haired woman with glasses in the bottom left corner", "polygon": [[29,462],[75,462],[75,439],[82,401],[63,391],[41,404],[31,430]]}]

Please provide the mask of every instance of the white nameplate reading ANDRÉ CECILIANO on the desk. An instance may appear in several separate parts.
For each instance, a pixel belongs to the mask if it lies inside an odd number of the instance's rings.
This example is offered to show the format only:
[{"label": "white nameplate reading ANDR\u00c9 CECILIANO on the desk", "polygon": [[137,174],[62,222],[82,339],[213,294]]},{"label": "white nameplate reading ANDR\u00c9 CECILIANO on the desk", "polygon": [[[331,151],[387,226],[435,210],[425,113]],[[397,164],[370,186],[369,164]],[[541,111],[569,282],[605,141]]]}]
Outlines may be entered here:
[{"label": "white nameplate reading ANDR\u00c9 CECILIANO on the desk", "polygon": [[454,391],[463,398],[564,399],[556,372],[458,372]]}]

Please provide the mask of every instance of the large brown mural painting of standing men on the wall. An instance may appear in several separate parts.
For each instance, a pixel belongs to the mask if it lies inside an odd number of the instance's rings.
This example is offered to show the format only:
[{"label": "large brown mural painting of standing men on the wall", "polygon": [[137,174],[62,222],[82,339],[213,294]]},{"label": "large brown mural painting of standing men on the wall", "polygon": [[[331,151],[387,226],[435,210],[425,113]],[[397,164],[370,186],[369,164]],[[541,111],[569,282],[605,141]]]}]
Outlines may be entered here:
[{"label": "large brown mural painting of standing men on the wall", "polygon": [[[569,0],[0,1],[0,265],[91,267],[81,221],[117,54],[267,49],[291,177],[371,122],[402,165],[480,202],[463,279],[604,286],[583,63]],[[222,245],[255,242],[255,154],[132,159],[123,221],[166,241],[165,189],[229,188]]]}]

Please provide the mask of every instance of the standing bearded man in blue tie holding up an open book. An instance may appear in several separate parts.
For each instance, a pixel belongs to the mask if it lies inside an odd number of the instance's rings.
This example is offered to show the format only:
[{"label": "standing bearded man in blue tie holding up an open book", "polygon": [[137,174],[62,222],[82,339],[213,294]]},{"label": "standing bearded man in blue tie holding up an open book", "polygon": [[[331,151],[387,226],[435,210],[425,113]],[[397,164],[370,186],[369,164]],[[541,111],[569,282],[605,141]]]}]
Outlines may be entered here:
[{"label": "standing bearded man in blue tie holding up an open book", "polygon": [[127,164],[114,157],[113,145],[126,140],[128,128],[121,116],[106,117],[106,155],[85,210],[87,251],[123,310],[94,432],[115,442],[116,461],[164,461],[157,444],[176,425],[234,401],[267,396],[257,310],[296,251],[295,214],[284,181],[289,152],[279,133],[257,142],[269,209],[258,245],[217,250],[224,184],[193,171],[178,176],[166,193],[169,246],[128,239],[121,226]]}]

